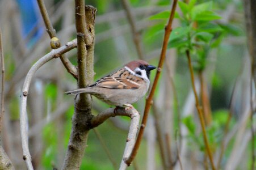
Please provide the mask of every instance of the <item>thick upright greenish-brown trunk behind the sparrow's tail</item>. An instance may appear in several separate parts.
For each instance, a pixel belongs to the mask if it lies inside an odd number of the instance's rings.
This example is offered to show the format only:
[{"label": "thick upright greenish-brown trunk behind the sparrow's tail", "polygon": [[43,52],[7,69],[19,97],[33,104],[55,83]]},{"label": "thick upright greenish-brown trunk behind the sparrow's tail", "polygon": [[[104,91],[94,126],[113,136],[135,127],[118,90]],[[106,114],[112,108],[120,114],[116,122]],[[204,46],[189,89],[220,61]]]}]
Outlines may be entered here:
[{"label": "thick upright greenish-brown trunk behind the sparrow's tail", "polygon": [[[75,1],[75,28],[77,29],[78,88],[93,82],[94,19],[96,8],[85,7],[85,1]],[[91,129],[91,97],[80,94],[75,98],[72,131],[62,169],[80,169]]]}]

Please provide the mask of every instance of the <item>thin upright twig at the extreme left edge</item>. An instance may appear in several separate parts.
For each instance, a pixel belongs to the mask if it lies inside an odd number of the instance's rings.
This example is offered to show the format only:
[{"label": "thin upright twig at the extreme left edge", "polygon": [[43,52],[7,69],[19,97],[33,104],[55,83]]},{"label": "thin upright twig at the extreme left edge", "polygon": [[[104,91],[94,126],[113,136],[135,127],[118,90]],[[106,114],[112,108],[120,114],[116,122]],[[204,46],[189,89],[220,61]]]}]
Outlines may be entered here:
[{"label": "thin upright twig at the extreme left edge", "polygon": [[0,141],[1,141],[1,131],[2,131],[2,118],[5,114],[5,60],[3,58],[3,44],[2,44],[2,32],[0,29],[0,57],[1,57],[1,69],[2,69],[2,79],[1,79],[1,113],[0,113]]}]

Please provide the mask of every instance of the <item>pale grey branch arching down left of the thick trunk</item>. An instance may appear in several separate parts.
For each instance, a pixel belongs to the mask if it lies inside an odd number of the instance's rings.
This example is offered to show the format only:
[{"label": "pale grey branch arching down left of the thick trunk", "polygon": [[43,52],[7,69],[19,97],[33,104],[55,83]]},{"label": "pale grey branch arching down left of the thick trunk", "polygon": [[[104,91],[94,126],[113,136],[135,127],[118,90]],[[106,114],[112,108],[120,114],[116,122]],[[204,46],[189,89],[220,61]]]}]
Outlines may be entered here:
[{"label": "pale grey branch arching down left of the thick trunk", "polygon": [[26,79],[24,80],[22,94],[20,96],[20,134],[22,138],[22,149],[23,149],[23,159],[26,162],[28,169],[33,169],[31,163],[30,151],[28,149],[28,131],[27,131],[27,96],[28,89],[30,88],[30,83],[32,76],[36,73],[36,71],[43,66],[45,63],[53,59],[54,57],[60,57],[61,54],[72,50],[77,46],[77,40],[73,40],[68,42],[66,45],[61,46],[61,48],[52,50],[50,53],[46,54],[44,57],[40,58],[28,71]]}]

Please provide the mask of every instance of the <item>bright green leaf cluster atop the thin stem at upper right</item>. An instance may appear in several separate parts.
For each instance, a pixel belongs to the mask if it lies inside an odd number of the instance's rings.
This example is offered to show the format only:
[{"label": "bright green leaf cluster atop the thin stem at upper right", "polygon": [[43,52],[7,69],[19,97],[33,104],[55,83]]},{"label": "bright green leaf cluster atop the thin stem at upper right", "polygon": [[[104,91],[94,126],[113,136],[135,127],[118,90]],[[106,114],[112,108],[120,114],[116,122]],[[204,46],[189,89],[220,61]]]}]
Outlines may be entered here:
[{"label": "bright green leaf cluster atop the thin stem at upper right", "polygon": [[[171,32],[169,48],[177,48],[181,53],[190,50],[194,56],[192,58],[196,61],[194,69],[204,70],[209,49],[217,47],[223,38],[221,36],[223,28],[214,22],[221,17],[212,10],[212,1],[196,3],[196,0],[189,3],[178,1],[182,15],[176,12],[175,18],[180,20],[182,27],[174,28]],[[170,11],[163,11],[149,19],[166,22],[169,15]],[[159,25],[152,27],[148,34],[156,35],[161,32],[160,28]],[[146,36],[149,37],[149,35]]]}]

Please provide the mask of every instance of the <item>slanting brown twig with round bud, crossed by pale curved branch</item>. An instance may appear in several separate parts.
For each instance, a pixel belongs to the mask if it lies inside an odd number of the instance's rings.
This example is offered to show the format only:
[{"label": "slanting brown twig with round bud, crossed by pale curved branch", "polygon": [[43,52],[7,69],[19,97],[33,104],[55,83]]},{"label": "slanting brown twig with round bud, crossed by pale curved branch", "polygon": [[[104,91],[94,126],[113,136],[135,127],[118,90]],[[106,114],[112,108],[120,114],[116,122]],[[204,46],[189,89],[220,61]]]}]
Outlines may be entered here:
[{"label": "slanting brown twig with round bud, crossed by pale curved branch", "polygon": [[[58,40],[58,38],[56,37],[56,31],[52,26],[52,23],[49,19],[49,15],[48,12],[46,10],[45,4],[43,0],[37,0],[37,4],[39,6],[41,15],[43,17],[44,20],[44,24],[46,27],[46,31],[48,32],[49,36],[51,37],[51,48],[52,49],[57,49],[60,48],[61,43],[60,40]],[[65,66],[66,70],[73,75],[73,77],[75,79],[77,79],[77,69],[75,68],[75,66],[69,61],[69,59],[65,56],[65,55],[61,55],[60,56],[61,62],[63,63],[63,65]]]}]

